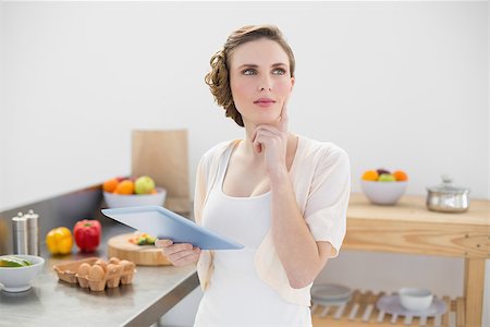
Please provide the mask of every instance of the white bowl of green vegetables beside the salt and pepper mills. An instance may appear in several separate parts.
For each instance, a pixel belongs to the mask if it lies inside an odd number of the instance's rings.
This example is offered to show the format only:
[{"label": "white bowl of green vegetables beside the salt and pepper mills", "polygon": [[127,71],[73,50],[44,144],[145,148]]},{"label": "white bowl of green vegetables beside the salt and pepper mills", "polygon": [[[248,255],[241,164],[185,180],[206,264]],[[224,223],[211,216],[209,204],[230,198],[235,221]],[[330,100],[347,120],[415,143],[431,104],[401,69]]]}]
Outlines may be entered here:
[{"label": "white bowl of green vegetables beside the salt and pepper mills", "polygon": [[36,255],[27,254],[10,254],[2,255],[0,259],[5,256],[16,256],[32,263],[26,267],[0,267],[0,284],[7,292],[23,292],[30,289],[30,282],[42,270],[45,259]]}]

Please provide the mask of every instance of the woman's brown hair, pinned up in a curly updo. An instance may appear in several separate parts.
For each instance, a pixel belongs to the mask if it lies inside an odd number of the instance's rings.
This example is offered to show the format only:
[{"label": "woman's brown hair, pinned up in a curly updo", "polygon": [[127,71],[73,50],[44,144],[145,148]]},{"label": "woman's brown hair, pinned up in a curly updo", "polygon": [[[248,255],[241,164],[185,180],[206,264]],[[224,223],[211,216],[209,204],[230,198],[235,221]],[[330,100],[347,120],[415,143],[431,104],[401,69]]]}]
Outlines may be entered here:
[{"label": "woman's brown hair, pinned up in a curly updo", "polygon": [[295,60],[293,50],[284,40],[281,31],[273,25],[248,25],[233,32],[228,37],[223,49],[211,57],[211,71],[205,77],[216,102],[224,108],[226,117],[232,118],[242,128],[244,126],[242,114],[236,110],[230,87],[230,58],[236,47],[259,38],[277,41],[282,47],[290,59],[291,77],[294,77]]}]

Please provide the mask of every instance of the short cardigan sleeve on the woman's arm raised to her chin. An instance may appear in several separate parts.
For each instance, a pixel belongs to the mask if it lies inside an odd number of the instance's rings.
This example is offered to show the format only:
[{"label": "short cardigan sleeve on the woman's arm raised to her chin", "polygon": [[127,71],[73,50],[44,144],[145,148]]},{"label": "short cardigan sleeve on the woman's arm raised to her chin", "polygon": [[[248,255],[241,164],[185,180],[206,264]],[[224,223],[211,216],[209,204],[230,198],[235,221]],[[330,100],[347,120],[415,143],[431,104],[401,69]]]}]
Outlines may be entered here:
[{"label": "short cardigan sleeve on the woman's arm raised to her chin", "polygon": [[305,207],[305,220],[316,241],[332,244],[330,257],[339,255],[346,231],[351,193],[351,167],[347,154],[330,144],[316,162]]}]

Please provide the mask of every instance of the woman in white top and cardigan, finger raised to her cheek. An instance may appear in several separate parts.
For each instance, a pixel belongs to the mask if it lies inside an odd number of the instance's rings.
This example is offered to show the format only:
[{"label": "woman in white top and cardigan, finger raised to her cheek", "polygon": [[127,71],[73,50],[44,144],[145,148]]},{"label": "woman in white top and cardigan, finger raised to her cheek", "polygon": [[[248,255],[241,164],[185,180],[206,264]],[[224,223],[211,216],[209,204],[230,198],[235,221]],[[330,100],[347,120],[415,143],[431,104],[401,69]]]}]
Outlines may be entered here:
[{"label": "woman in white top and cardigan, finger raised to her cheek", "polygon": [[245,245],[200,251],[159,240],[175,266],[197,263],[195,326],[311,326],[310,288],[345,234],[344,150],[287,130],[293,51],[275,26],[245,26],[211,58],[216,101],[245,130],[200,159],[196,222]]}]

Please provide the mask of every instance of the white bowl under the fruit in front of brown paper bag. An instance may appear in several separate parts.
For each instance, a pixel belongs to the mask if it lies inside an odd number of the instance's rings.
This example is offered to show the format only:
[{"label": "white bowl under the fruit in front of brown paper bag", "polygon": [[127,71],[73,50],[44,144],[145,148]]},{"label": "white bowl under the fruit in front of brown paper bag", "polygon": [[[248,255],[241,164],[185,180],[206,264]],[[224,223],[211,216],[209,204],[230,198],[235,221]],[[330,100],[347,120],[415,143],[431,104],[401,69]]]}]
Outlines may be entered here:
[{"label": "white bowl under the fruit in front of brown paper bag", "polygon": [[162,206],[166,202],[167,190],[157,187],[157,194],[113,194],[103,192],[103,199],[109,208],[135,207],[135,206]]}]

